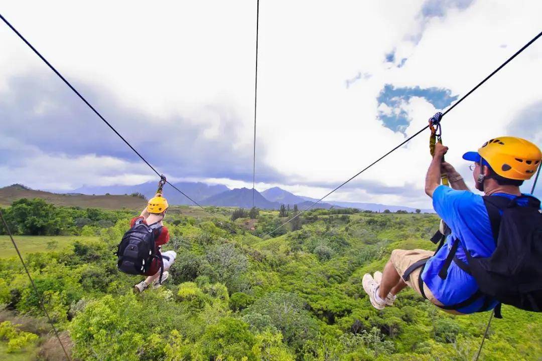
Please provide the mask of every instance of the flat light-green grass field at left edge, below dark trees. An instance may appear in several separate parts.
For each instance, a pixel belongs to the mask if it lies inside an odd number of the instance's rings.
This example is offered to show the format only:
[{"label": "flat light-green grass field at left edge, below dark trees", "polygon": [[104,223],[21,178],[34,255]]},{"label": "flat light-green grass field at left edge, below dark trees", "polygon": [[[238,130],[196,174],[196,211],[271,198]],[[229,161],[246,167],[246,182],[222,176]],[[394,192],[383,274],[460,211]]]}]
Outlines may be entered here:
[{"label": "flat light-green grass field at left edge, below dark trees", "polygon": [[[83,242],[98,240],[97,236],[76,235],[16,235],[14,238],[15,242],[17,243],[17,247],[19,248],[19,251],[21,251],[23,255],[35,252],[62,250],[62,248],[69,246],[75,240]],[[52,245],[48,246],[48,242],[50,241],[53,241],[53,243],[54,241],[56,241],[56,246],[52,248]],[[11,243],[9,236],[0,235],[0,258],[13,257],[16,255],[17,252],[15,251],[15,248]]]}]

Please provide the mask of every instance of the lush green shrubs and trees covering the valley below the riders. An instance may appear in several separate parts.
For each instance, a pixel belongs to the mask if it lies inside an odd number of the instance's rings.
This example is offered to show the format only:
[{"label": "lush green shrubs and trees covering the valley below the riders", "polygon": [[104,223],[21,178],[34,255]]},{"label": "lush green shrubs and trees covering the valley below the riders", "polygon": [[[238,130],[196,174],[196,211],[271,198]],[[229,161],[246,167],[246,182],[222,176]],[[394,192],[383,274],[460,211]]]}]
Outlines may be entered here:
[{"label": "lush green shrubs and trees covering the valley below the riders", "polygon": [[[131,215],[101,228],[96,240],[28,254],[51,316],[69,331],[74,357],[472,360],[478,351],[488,313],[450,316],[412,290],[377,311],[361,285],[393,248],[433,248],[427,239],[435,215],[317,209],[300,218],[298,231],[288,225],[271,238],[264,235],[284,214],[260,211],[250,232],[246,219],[229,220],[231,212],[208,219],[169,214],[165,249],[176,250],[177,260],[163,287],[142,294],[132,292],[141,277],[119,273],[112,254]],[[42,317],[13,258],[0,259],[0,304]],[[542,315],[503,312],[480,359],[539,360]]]}]

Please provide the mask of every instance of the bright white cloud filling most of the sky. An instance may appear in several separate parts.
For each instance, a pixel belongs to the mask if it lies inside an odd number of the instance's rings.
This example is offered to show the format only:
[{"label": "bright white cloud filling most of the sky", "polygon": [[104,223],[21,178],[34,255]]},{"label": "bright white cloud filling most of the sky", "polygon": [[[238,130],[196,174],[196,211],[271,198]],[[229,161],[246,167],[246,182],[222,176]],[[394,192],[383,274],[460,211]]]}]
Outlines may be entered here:
[{"label": "bright white cloud filling most of the sky", "polygon": [[[376,97],[384,84],[448,88],[463,95],[540,31],[542,3],[537,1],[478,1],[466,9],[449,4],[444,16],[431,18],[420,16],[422,4],[421,0],[335,2],[333,6],[261,2],[257,142],[266,152],[256,155],[257,167],[273,167],[286,175],[286,185],[281,187],[319,198],[329,189],[308,184],[338,185],[403,141],[401,133],[383,127],[377,119],[378,110],[386,114],[399,110],[377,108]],[[75,86],[98,84],[110,89],[122,107],[156,116],[149,119],[150,127],[159,128],[167,116],[182,115],[187,122],[204,124],[202,142],[216,139],[223,134],[220,117],[212,109],[201,110],[202,104],[216,104],[238,118],[231,124],[239,135],[234,148],[249,149],[255,10],[255,2],[248,0],[152,5],[66,1],[54,6],[35,1],[4,4],[3,15]],[[10,76],[49,71],[7,27],[0,27],[0,42],[8,49],[0,54],[0,88],[7,86]],[[396,63],[408,58],[403,67],[386,65],[385,54],[392,50]],[[542,99],[541,60],[542,40],[445,117],[450,162],[464,172],[465,150],[502,135],[522,110]],[[345,87],[353,74],[371,76]],[[100,108],[99,99],[91,102]],[[47,111],[47,106],[35,111]],[[412,121],[406,134],[425,126],[436,111],[421,98],[401,107]],[[533,130],[541,132],[541,127]],[[422,191],[429,163],[427,136],[422,134],[360,176],[390,187],[403,186],[405,191],[415,184],[419,198],[371,194],[362,188],[341,189],[333,198],[430,207]],[[79,167],[85,174],[70,179],[74,172],[57,169],[70,184],[85,179],[99,182],[106,179],[105,170],[118,181],[136,179],[130,176],[135,173],[113,166],[98,172],[93,161],[81,157],[59,161],[59,167]],[[31,180],[37,182],[36,174],[22,173],[23,179],[14,181],[30,185]],[[62,179],[47,184],[63,185]],[[229,180],[227,185],[251,187],[251,182]],[[267,186],[259,183],[257,188]]]}]

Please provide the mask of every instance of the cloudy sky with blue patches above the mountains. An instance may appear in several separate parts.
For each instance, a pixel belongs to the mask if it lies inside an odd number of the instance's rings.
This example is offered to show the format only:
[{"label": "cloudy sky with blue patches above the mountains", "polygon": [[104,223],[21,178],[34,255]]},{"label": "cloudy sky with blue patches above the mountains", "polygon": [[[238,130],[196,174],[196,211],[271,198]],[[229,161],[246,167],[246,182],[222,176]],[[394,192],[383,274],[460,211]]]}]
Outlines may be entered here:
[{"label": "cloudy sky with blue patches above the mountains", "polygon": [[[260,1],[258,191],[320,198],[542,30],[535,0],[330,4]],[[18,1],[0,11],[169,180],[252,187],[256,1]],[[157,181],[3,23],[0,44],[0,186]],[[541,63],[539,40],[444,117],[447,161],[472,189],[464,152],[503,135],[542,145]],[[428,137],[329,200],[430,208]]]}]

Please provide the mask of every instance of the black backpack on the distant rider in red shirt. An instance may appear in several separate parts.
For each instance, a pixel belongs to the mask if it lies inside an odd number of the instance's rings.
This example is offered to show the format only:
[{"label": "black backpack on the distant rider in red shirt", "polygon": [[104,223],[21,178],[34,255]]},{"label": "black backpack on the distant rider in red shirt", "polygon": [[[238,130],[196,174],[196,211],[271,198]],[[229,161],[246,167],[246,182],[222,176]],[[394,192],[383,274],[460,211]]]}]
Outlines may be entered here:
[{"label": "black backpack on the distant rider in red shirt", "polygon": [[154,230],[162,226],[155,223],[147,226],[143,220],[135,222],[134,226],[122,236],[117,250],[117,267],[128,274],[145,274],[151,267],[152,260],[157,259],[160,265],[160,279],[164,272],[164,263],[154,243]]}]

